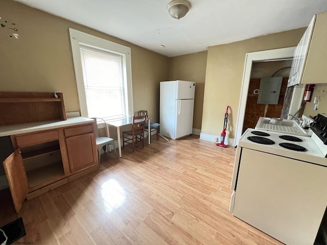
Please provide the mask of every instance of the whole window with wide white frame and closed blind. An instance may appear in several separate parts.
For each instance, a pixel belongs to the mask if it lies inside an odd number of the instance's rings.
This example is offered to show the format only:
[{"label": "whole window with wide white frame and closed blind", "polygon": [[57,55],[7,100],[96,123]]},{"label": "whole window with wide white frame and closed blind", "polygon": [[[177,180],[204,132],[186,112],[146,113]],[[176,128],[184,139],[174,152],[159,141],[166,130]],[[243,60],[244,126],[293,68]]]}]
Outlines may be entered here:
[{"label": "whole window with wide white frame and closed blind", "polygon": [[133,114],[130,48],[69,29],[81,115],[106,120]]}]

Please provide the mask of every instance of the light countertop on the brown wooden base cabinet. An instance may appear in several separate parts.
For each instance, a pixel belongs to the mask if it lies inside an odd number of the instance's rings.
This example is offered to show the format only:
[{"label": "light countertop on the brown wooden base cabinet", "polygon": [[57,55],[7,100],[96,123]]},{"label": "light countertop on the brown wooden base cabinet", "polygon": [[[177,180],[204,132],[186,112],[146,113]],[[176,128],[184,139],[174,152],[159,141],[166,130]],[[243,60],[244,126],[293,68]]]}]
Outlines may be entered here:
[{"label": "light countertop on the brown wooden base cabinet", "polygon": [[85,124],[85,122],[93,121],[93,119],[78,116],[67,118],[67,120],[37,121],[28,124],[5,125],[0,126],[0,137],[80,125]]}]

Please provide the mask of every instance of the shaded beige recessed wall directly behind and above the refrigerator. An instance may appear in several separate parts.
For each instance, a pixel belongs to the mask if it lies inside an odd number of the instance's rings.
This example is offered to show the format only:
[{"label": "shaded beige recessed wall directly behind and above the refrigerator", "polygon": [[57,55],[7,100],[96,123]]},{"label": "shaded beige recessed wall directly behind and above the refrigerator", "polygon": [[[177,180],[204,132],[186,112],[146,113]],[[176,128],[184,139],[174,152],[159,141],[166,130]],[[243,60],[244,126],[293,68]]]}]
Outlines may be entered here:
[{"label": "shaded beige recessed wall directly behind and above the refrigerator", "polygon": [[193,128],[201,130],[207,52],[176,56],[170,59],[170,80],[196,83]]}]

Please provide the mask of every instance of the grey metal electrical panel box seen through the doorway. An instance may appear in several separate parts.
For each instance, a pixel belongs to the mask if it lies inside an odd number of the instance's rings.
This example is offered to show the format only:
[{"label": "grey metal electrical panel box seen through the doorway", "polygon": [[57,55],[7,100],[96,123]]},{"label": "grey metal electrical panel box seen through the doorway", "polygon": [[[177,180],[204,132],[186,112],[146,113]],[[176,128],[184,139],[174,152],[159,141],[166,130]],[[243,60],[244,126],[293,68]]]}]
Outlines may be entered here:
[{"label": "grey metal electrical panel box seen through the doorway", "polygon": [[257,104],[277,105],[281,93],[283,77],[262,78],[260,80]]}]

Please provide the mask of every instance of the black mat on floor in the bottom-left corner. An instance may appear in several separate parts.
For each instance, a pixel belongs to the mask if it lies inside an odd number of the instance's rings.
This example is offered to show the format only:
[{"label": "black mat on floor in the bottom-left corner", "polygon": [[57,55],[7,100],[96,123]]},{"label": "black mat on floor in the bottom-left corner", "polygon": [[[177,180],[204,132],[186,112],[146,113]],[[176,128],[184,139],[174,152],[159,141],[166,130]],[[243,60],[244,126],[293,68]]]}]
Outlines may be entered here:
[{"label": "black mat on floor in the bottom-left corner", "polygon": [[[21,217],[1,227],[0,229],[2,229],[8,237],[6,244],[11,244],[26,235],[24,223],[22,222]],[[0,244],[2,244],[5,240],[6,238],[4,237],[4,234],[0,231]]]}]

